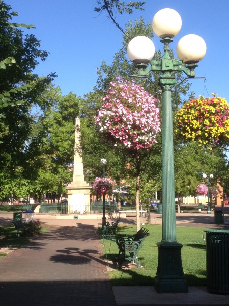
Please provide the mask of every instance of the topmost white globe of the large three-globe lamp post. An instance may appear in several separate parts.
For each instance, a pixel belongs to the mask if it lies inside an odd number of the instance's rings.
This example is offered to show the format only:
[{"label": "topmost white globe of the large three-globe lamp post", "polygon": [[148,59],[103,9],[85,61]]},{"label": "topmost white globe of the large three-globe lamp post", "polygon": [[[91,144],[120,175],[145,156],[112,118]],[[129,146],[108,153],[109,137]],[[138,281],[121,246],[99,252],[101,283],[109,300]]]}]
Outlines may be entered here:
[{"label": "topmost white globe of the large three-globe lamp post", "polygon": [[162,9],[153,18],[154,33],[161,37],[174,37],[181,30],[182,20],[179,13],[173,9]]}]

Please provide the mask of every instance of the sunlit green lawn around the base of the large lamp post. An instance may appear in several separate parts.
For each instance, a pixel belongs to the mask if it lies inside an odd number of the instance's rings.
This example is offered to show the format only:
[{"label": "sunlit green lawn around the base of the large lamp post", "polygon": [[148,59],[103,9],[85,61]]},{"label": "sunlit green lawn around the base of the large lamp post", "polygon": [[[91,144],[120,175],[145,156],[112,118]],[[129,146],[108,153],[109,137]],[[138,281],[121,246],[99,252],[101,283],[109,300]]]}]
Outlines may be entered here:
[{"label": "sunlit green lawn around the base of the large lamp post", "polygon": [[[139,251],[139,260],[144,266],[142,269],[118,269],[110,271],[112,286],[151,286],[157,271],[158,247],[161,241],[161,225],[145,225],[150,235],[146,237],[142,249]],[[203,240],[204,228],[177,226],[177,241],[183,245],[182,265],[188,286],[206,286],[206,245]],[[136,226],[119,226],[117,234],[133,235]],[[205,237],[205,233],[204,233]],[[118,254],[115,241],[104,239],[103,252],[105,259],[114,260]]]}]

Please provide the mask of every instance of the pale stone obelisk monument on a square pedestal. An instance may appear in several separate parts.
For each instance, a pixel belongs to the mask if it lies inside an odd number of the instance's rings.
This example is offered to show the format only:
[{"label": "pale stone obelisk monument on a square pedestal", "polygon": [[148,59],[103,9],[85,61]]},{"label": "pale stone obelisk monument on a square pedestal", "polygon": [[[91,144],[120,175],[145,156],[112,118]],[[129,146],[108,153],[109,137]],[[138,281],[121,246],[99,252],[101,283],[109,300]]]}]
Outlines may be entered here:
[{"label": "pale stone obelisk monument on a square pedestal", "polygon": [[83,175],[83,161],[80,144],[80,121],[75,119],[75,148],[74,148],[74,165],[73,179],[66,187],[68,190],[68,209],[69,213],[90,212],[90,190],[91,186],[85,182]]}]

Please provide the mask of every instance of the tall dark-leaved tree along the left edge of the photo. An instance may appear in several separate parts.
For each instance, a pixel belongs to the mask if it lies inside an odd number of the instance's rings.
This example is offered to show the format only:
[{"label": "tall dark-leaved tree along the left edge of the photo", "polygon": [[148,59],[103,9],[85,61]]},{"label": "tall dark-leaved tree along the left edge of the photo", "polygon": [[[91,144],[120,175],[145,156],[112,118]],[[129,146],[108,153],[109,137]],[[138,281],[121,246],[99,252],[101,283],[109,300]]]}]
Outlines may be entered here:
[{"label": "tall dark-leaved tree along the left edge of the photo", "polygon": [[[33,129],[31,109],[37,98],[55,77],[50,73],[39,78],[33,70],[44,61],[48,52],[40,49],[40,41],[33,34],[24,35],[23,28],[32,25],[12,23],[11,6],[0,1],[0,184],[6,190],[7,182],[26,173],[36,175],[28,167],[28,159],[36,152],[34,141],[28,141]],[[5,65],[5,66],[4,66]],[[30,88],[30,90],[27,90]],[[27,177],[29,178],[29,177]],[[0,192],[1,192],[0,190]]]}]

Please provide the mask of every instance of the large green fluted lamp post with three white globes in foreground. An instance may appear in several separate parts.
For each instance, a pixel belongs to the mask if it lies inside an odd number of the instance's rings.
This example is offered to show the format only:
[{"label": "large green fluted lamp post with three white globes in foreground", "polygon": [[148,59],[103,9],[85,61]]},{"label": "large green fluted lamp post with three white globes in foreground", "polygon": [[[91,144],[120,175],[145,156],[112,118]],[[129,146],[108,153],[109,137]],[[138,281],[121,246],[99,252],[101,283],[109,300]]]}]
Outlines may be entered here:
[{"label": "large green fluted lamp post with three white globes in foreground", "polygon": [[[127,47],[127,54],[136,65],[137,76],[146,77],[151,71],[162,73],[159,86],[162,90],[162,241],[158,245],[158,267],[155,289],[158,293],[187,293],[181,260],[182,244],[176,238],[176,210],[174,184],[174,148],[171,88],[175,86],[174,72],[184,72],[194,78],[194,69],[206,53],[205,41],[195,35],[186,35],[177,45],[180,59],[173,60],[169,55],[169,43],[181,29],[181,17],[173,9],[162,9],[153,18],[154,33],[164,44],[161,60],[152,60],[155,47],[145,36],[133,38]],[[148,66],[148,64],[150,65]]]}]

